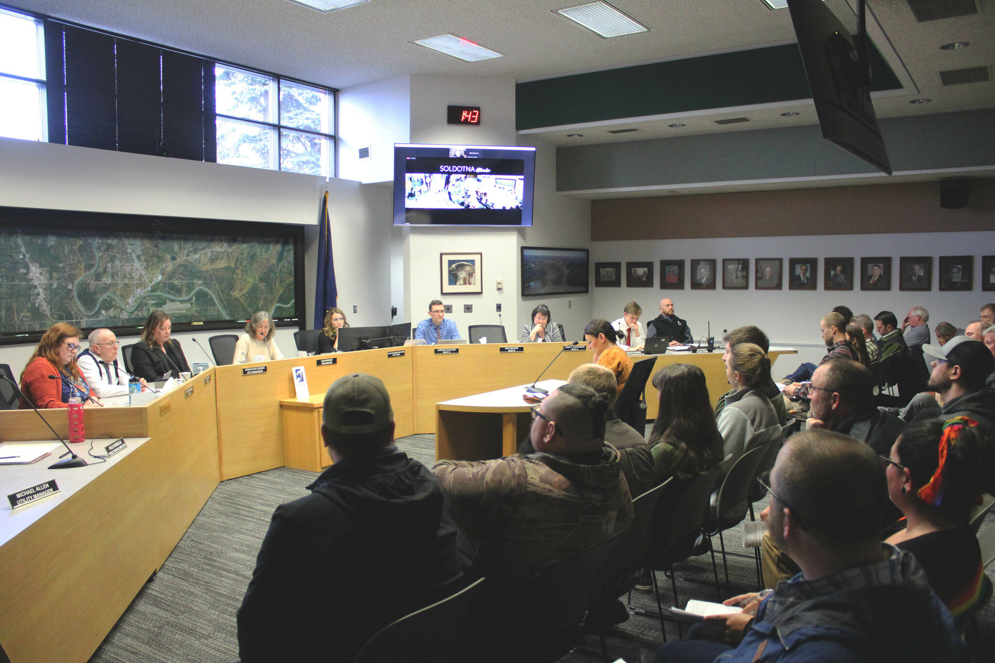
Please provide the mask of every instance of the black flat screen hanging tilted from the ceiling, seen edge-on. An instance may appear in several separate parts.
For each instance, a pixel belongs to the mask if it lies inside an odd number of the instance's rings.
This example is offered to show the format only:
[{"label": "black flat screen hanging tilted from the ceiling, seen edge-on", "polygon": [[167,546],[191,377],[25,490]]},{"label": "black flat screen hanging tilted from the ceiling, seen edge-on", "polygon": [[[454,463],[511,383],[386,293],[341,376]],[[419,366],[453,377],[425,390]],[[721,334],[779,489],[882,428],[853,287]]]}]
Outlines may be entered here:
[{"label": "black flat screen hanging tilted from the ceiling, seen edge-on", "polygon": [[[892,174],[868,91],[868,61],[850,32],[821,0],[788,0],[788,11],[812,88],[822,135],[875,168]],[[865,40],[864,3],[857,39]]]}]

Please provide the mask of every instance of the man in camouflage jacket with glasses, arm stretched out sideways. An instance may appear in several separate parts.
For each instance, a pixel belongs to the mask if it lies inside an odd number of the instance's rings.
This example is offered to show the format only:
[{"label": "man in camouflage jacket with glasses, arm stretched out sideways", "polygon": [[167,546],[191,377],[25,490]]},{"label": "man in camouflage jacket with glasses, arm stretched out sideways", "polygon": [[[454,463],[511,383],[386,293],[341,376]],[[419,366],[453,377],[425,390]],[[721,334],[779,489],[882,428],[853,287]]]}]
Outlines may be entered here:
[{"label": "man in camouflage jacket with glasses, arm stretched out sideways", "polygon": [[513,600],[544,570],[629,527],[632,496],[604,440],[607,410],[605,395],[563,385],[532,409],[534,453],[432,468],[488,595]]}]

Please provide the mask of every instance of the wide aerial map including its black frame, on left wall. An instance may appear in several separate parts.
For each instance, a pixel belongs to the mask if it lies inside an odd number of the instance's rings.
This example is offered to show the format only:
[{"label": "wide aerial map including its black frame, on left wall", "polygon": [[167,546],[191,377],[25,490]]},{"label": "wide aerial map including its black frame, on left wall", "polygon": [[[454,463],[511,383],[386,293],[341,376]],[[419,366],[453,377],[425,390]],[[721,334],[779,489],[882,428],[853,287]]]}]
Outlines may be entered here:
[{"label": "wide aerial map including its black frame, on left wall", "polygon": [[208,219],[0,208],[0,344],[53,323],[133,335],[149,311],[174,331],[255,311],[303,319],[303,229]]}]

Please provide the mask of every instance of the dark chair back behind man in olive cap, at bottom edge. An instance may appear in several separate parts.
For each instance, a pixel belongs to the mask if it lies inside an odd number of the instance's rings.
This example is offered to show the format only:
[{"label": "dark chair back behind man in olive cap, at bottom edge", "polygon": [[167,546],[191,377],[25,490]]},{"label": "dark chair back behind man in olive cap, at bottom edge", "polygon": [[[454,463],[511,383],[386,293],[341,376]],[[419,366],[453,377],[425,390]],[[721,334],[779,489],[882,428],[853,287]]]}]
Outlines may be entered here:
[{"label": "dark chair back behind man in olive cap, at bottom edge", "polygon": [[[468,607],[484,579],[451,596],[387,624],[366,641],[352,663],[380,663],[413,658],[441,663],[464,660]],[[469,638],[467,638],[469,640]]]}]

